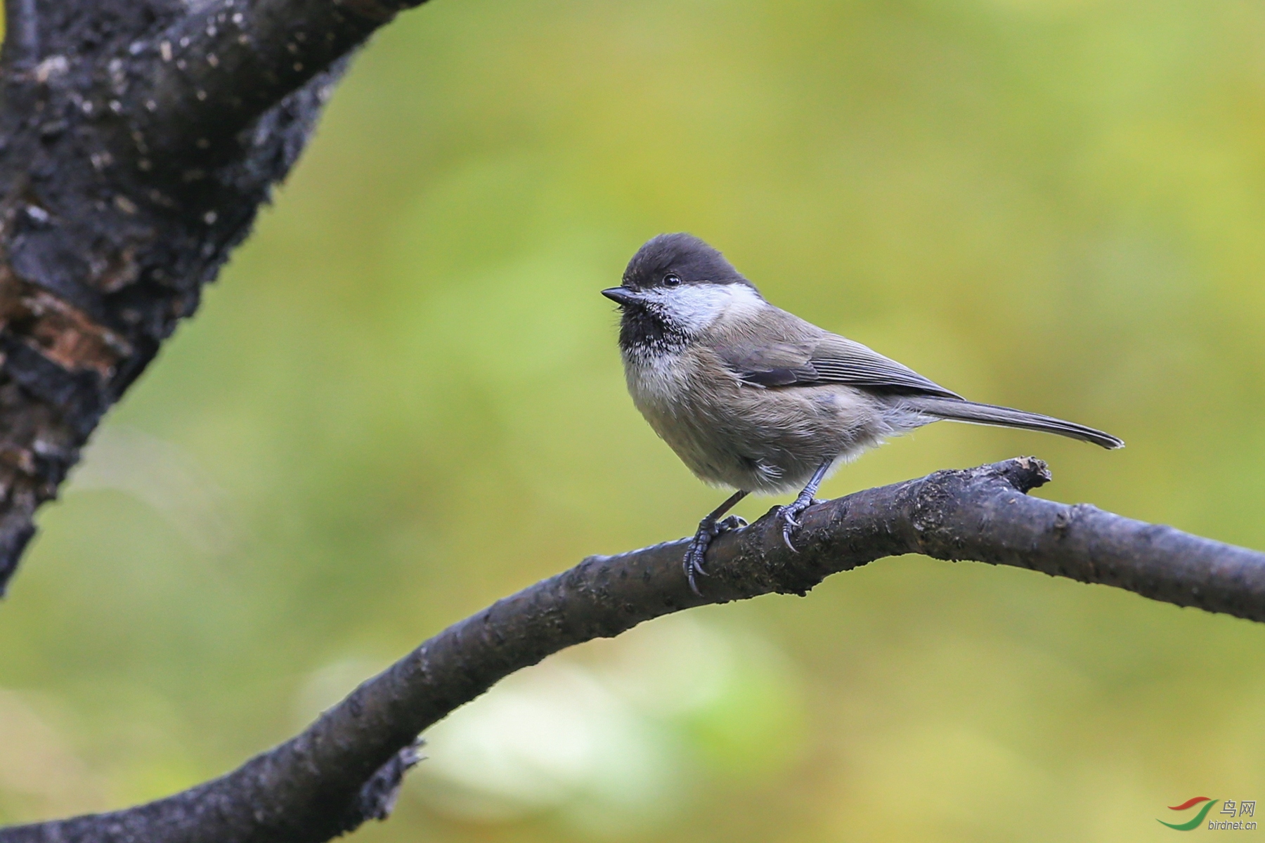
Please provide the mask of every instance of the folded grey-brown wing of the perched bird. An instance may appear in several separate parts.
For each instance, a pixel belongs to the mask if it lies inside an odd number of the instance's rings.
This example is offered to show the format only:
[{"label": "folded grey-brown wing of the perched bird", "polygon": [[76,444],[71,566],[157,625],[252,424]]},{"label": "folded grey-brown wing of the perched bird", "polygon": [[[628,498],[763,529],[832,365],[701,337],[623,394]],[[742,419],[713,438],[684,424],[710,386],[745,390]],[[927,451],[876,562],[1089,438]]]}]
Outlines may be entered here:
[{"label": "folded grey-brown wing of the perched bird", "polygon": [[842,383],[894,394],[961,397],[860,343],[825,331],[798,343],[739,343],[721,356],[744,383],[758,387]]}]

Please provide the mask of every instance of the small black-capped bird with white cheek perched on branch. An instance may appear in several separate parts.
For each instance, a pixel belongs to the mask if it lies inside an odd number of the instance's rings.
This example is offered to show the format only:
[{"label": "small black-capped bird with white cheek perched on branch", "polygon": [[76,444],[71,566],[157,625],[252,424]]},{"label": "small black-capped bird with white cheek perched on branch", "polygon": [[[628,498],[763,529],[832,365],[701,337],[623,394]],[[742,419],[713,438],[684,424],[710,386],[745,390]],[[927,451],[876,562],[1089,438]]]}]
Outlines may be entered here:
[{"label": "small black-capped bird with white cheek perched on branch", "polygon": [[[724,518],[750,493],[799,489],[778,512],[782,540],[831,471],[889,436],[951,420],[1059,434],[1123,447],[1109,434],[1022,409],[966,401],[760,296],[725,257],[689,234],[643,245],[619,287],[620,350],[632,403],[700,480],[736,492],[698,523],[684,569],[696,575]],[[724,518],[724,519],[722,519]]]}]

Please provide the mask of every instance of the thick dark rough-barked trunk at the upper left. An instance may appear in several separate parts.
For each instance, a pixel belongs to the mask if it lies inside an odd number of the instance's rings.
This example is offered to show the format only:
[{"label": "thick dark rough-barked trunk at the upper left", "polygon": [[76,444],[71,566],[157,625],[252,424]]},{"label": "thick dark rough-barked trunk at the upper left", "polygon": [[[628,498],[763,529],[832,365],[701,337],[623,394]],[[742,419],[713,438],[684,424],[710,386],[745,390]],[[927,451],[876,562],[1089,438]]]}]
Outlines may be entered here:
[{"label": "thick dark rough-barked trunk at the upper left", "polygon": [[0,593],[37,507],[245,238],[345,57],[419,3],[5,0]]}]

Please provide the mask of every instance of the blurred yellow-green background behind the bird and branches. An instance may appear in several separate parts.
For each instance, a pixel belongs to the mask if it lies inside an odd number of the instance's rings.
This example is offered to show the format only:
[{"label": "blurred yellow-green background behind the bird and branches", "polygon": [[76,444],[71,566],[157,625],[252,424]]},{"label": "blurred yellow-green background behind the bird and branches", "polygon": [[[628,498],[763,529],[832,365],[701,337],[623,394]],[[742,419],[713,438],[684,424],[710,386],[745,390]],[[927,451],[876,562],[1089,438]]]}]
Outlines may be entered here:
[{"label": "blurred yellow-green background behind the bird and branches", "polygon": [[[1246,0],[402,15],[42,513],[0,820],[224,772],[491,600],[691,532],[721,493],[632,408],[597,294],[660,231],[1128,441],[937,425],[827,494],[1036,454],[1042,495],[1265,547],[1262,43]],[[354,839],[1160,839],[1165,805],[1265,800],[1262,665],[1243,621],[884,560],[524,671]]]}]

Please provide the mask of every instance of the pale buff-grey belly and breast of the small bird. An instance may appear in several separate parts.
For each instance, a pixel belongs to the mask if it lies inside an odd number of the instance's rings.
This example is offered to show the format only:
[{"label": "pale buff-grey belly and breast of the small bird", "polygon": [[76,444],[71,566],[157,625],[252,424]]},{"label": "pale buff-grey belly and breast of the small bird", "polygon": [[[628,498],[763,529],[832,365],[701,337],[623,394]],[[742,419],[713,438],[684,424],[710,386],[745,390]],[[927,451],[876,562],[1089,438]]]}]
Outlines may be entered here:
[{"label": "pale buff-grey belly and breast of the small bird", "polygon": [[682,355],[626,360],[632,402],[701,480],[781,494],[797,492],[827,460],[855,456],[885,431],[865,396],[841,385],[763,389]]}]

